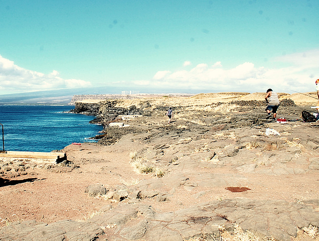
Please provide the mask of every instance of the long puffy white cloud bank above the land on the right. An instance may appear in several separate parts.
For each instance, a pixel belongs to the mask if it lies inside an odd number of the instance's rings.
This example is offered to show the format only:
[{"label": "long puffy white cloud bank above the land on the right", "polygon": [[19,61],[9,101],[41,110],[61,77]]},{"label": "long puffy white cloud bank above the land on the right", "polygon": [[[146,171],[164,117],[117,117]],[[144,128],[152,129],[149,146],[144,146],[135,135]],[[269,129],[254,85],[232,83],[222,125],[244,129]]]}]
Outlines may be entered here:
[{"label": "long puffy white cloud bank above the land on the right", "polygon": [[235,68],[223,68],[221,62],[211,67],[198,64],[191,70],[159,71],[151,84],[168,88],[182,87],[211,92],[241,91],[265,92],[272,88],[277,92],[292,93],[315,91],[315,81],[319,78],[319,49],[277,57],[278,68],[256,67],[245,62]]}]

